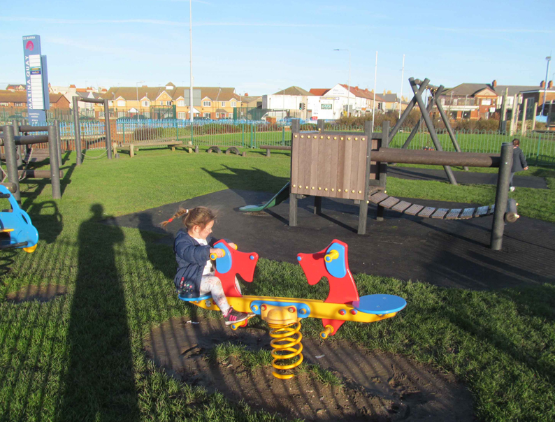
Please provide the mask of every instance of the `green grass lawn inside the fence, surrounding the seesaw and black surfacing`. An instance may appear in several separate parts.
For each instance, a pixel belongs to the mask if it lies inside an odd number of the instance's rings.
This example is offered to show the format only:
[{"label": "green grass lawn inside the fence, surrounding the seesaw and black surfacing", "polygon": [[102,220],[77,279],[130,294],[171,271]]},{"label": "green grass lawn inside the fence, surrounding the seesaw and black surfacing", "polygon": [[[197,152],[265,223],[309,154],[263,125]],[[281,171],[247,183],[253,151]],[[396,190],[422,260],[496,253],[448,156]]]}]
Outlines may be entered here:
[{"label": "green grass lawn inside the fence, surrounding the seesaw and black surfacing", "polygon": [[[221,189],[278,191],[289,180],[289,154],[272,152],[268,159],[262,150],[248,150],[242,158],[160,149],[121,157],[85,159],[76,168],[75,154],[65,156],[61,200],[52,200],[50,184],[22,182],[22,207],[41,240],[34,254],[0,254],[0,419],[280,420],[176,381],[146,358],[142,339],[150,328],[199,308],[175,297],[173,250],[153,242],[159,235],[97,221]],[[555,172],[530,173],[547,177],[550,189],[514,191],[519,212],[555,221]],[[391,177],[388,193],[486,204],[493,203],[495,187]],[[246,294],[325,297],[325,284],[308,286],[299,265],[261,259],[257,268]],[[554,286],[477,292],[425,280],[366,274],[355,279],[361,295],[396,294],[410,305],[380,323],[345,323],[336,337],[456,374],[473,393],[482,421],[555,420]],[[67,294],[48,302],[7,299],[11,292],[49,283],[64,286]],[[303,323],[304,336],[316,337],[320,329],[319,321]],[[242,351],[215,350],[215,359],[217,353]],[[245,361],[268,364],[267,356]],[[324,375],[323,384],[335,382]]]}]

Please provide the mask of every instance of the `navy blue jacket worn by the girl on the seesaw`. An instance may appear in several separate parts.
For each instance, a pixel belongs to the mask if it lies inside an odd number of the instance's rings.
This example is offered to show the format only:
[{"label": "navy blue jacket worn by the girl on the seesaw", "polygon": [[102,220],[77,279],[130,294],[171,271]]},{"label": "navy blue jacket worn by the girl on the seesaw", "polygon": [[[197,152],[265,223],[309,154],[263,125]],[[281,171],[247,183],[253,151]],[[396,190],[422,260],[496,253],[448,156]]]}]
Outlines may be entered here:
[{"label": "navy blue jacket worn by the girl on the seesaw", "polygon": [[199,295],[202,272],[206,266],[206,261],[210,259],[210,248],[214,247],[219,239],[209,235],[206,241],[208,245],[201,245],[184,228],[180,228],[175,235],[173,252],[175,252],[175,259],[178,261],[178,272],[175,274],[175,279],[173,279],[175,289],[179,290],[182,281],[192,282],[196,295]]}]

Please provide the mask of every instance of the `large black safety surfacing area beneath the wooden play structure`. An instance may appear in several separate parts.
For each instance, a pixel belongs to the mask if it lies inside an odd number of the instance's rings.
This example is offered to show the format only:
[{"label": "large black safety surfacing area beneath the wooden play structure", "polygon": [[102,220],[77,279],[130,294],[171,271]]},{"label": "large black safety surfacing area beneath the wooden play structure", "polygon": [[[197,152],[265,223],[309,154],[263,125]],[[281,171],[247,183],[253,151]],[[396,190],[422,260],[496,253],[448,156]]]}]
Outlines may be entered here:
[{"label": "large black safety surfacing area beneath the wooden play structure", "polygon": [[[387,210],[384,221],[376,221],[375,206],[370,205],[368,234],[357,235],[359,207],[336,198],[324,198],[321,215],[313,214],[311,199],[298,201],[296,227],[287,225],[289,201],[265,212],[238,212],[243,205],[264,203],[271,196],[226,189],[104,222],[154,231],[162,235],[158,242],[173,245],[173,235],[181,228],[180,220],[169,224],[167,232],[157,224],[180,206],[205,205],[219,209],[214,229],[217,237],[230,239],[240,250],[257,252],[265,259],[297,263],[298,252],[322,249],[336,238],[349,245],[349,265],[354,273],[477,290],[555,282],[555,224],[547,221],[521,217],[516,223],[507,224],[503,250],[494,252],[489,249],[491,216],[449,221]],[[423,199],[416,202],[442,208],[475,206]]]}]

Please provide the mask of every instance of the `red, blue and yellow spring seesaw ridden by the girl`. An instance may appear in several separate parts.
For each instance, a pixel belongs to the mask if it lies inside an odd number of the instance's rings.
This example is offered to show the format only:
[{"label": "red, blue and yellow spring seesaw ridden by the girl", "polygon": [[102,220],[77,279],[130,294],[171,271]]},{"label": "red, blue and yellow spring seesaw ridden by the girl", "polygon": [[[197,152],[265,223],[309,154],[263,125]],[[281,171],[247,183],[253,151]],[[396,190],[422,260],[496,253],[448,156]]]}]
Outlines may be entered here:
[{"label": "red, blue and yellow spring seesaw ridden by the girl", "polygon": [[[240,275],[245,282],[252,282],[258,254],[240,252],[230,247],[225,240],[220,240],[214,247],[224,251],[224,256],[217,257],[212,254],[210,258],[215,261],[215,275],[222,281],[229,305],[239,312],[252,312],[260,316],[271,328],[269,334],[273,338],[270,342],[273,347],[273,375],[279,379],[293,378],[294,374],[290,370],[303,362],[303,319],[322,319],[324,329],[320,337],[326,339],[329,335],[335,335],[345,321],[382,321],[395,316],[407,305],[405,299],[393,295],[373,294],[359,297],[359,291],[349,270],[348,246],[340,240],[334,239],[320,252],[297,255],[308,284],[317,284],[322,277],[329,280],[329,295],[325,300],[243,296],[236,287],[235,277]],[[219,310],[210,294],[180,299],[206,310]],[[247,321],[233,323],[230,327],[237,330],[246,326]],[[289,360],[294,362],[291,363]]]}]

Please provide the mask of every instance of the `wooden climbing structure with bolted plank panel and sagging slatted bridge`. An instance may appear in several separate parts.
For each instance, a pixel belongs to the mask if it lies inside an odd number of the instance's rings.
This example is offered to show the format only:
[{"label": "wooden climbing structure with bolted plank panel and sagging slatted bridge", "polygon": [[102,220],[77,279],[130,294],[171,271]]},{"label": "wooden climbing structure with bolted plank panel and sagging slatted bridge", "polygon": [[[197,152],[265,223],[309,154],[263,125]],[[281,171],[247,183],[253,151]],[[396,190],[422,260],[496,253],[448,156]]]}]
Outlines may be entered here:
[{"label": "wooden climbing structure with bolted plank panel and sagging slatted bridge", "polygon": [[[421,82],[420,88],[417,89],[415,80],[410,78],[415,91],[413,105],[418,103],[422,106],[420,94],[427,81]],[[427,124],[429,116],[426,112],[423,113],[423,119]],[[373,132],[370,122],[366,122],[363,132],[326,131],[324,121],[319,121],[317,131],[301,132],[298,119],[294,119],[291,124],[289,226],[297,225],[297,201],[306,196],[314,197],[315,214],[321,212],[322,198],[354,201],[359,205],[359,234],[366,233],[370,202],[377,204],[377,219],[383,219],[385,209],[436,219],[467,219],[493,214],[491,249],[499,250],[505,221],[513,222],[519,217],[517,204],[508,198],[512,144],[504,143],[500,155],[445,152],[441,150],[437,136],[432,137],[435,151],[389,148],[389,142],[397,129],[398,125],[393,133],[390,133],[389,122],[384,122],[382,132]],[[435,135],[433,126],[428,126],[428,129]],[[448,177],[449,174],[452,175],[449,166],[499,168],[496,202],[477,208],[445,209],[401,201],[385,192],[387,163],[444,166]],[[454,178],[452,180],[452,177],[449,177],[449,180],[453,182]]]}]

